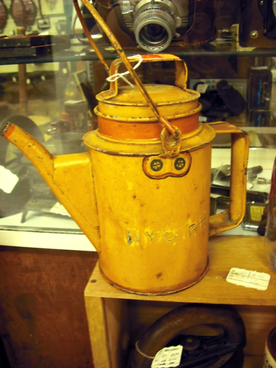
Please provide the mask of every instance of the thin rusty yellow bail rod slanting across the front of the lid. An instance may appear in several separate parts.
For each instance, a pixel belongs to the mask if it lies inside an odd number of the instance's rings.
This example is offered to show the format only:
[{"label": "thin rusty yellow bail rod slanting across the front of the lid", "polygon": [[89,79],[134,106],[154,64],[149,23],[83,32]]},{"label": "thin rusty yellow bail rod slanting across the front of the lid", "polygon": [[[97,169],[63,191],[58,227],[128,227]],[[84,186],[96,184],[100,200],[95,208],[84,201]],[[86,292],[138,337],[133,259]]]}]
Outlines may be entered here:
[{"label": "thin rusty yellow bail rod slanting across the front of the lid", "polygon": [[[146,100],[147,104],[149,105],[149,107],[153,111],[155,117],[158,119],[159,123],[163,127],[165,127],[172,134],[172,136],[175,139],[177,139],[178,136],[179,136],[179,133],[169,123],[169,121],[166,118],[164,118],[162,115],[160,115],[159,111],[157,110],[157,107],[155,106],[155,104],[152,101],[151,97],[149,96],[147,90],[145,89],[144,85],[142,84],[141,80],[139,79],[136,71],[132,67],[132,64],[129,61],[127,55],[125,54],[122,46],[120,45],[120,43],[118,42],[118,40],[116,39],[116,37],[114,36],[114,34],[111,32],[111,30],[107,26],[106,22],[104,21],[104,19],[101,17],[101,15],[95,9],[95,7],[89,2],[89,0],[81,0],[81,1],[87,7],[87,9],[90,11],[90,13],[93,15],[93,17],[96,19],[96,21],[100,24],[100,26],[102,27],[103,31],[105,32],[105,34],[107,35],[108,39],[110,40],[112,46],[118,52],[119,56],[121,57],[121,59],[123,60],[123,62],[125,64],[127,70],[129,71],[130,75],[132,76],[133,80],[135,81],[138,89],[142,93],[142,95],[143,95],[144,99]],[[73,2],[74,2],[74,5],[75,5],[77,3],[77,0],[73,0]],[[75,7],[76,7],[76,5],[75,5]],[[79,16],[79,14],[78,14],[78,16]],[[83,19],[83,16],[82,16],[81,12],[80,12],[79,18],[80,18],[80,20]],[[81,22],[82,22],[82,20],[81,20]],[[83,22],[84,22],[84,19],[83,19]],[[92,40],[92,37],[90,36],[90,38],[88,38],[88,39],[89,39],[89,41],[91,43],[91,46],[94,48],[95,42]],[[92,42],[91,42],[91,40],[92,40]],[[96,52],[96,50],[95,50],[95,52]]]}]

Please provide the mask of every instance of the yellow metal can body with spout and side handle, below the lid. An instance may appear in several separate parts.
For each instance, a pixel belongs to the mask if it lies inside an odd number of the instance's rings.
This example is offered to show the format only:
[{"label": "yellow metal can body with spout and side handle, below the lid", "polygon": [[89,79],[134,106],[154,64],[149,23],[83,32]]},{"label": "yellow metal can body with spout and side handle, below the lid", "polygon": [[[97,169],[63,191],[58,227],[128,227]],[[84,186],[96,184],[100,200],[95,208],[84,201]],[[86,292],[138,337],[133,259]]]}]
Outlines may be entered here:
[{"label": "yellow metal can body with spout and side handle, below the lid", "polygon": [[[116,142],[100,138],[97,131],[85,137],[89,154],[55,158],[16,126],[8,128],[6,138],[35,164],[99,250],[105,277],[125,290],[162,294],[190,286],[204,275],[209,223],[211,233],[218,233],[237,226],[244,215],[248,140],[232,128],[232,171],[237,175],[232,178],[232,205],[210,217],[215,131],[206,124],[200,127],[197,134],[182,137],[181,153],[173,158],[158,155],[160,141]],[[219,131],[219,125],[215,127]],[[231,132],[231,126],[223,128]],[[176,166],[181,158],[187,170]],[[165,178],[154,178],[154,166],[144,166],[144,160],[156,159],[167,170]]]}]

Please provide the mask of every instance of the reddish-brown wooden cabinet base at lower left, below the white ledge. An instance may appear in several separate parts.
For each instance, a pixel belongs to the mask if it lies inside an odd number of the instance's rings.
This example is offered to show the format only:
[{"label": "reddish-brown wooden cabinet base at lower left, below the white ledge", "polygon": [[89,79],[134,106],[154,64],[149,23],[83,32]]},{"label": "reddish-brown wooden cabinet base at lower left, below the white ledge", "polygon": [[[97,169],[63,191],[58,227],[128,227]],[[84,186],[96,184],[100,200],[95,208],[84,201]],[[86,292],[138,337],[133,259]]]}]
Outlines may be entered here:
[{"label": "reddish-brown wooden cabinet base at lower left, below the white ledge", "polygon": [[83,290],[97,260],[0,246],[0,367],[4,350],[10,368],[93,368]]}]

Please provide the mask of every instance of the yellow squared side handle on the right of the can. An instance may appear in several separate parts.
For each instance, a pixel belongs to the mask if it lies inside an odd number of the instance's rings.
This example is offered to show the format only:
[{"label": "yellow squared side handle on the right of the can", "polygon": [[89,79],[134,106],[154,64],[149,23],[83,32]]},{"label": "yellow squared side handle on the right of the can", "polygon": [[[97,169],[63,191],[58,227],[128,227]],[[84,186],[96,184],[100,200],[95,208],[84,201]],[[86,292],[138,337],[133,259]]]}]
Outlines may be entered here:
[{"label": "yellow squared side handle on the right of the can", "polygon": [[208,125],[212,126],[217,134],[230,133],[232,138],[230,204],[225,211],[210,217],[209,235],[215,235],[238,226],[244,218],[249,136],[228,123],[216,122]]}]

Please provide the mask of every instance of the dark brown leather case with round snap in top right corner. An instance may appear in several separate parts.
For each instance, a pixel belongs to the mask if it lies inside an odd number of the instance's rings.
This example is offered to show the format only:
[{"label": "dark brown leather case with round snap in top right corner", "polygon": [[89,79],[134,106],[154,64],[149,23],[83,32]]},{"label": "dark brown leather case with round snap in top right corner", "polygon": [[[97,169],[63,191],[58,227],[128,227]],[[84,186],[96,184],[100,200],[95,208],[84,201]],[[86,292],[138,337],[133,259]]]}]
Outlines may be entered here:
[{"label": "dark brown leather case with round snap in top right corner", "polygon": [[276,47],[276,2],[241,0],[239,32],[243,47]]}]

